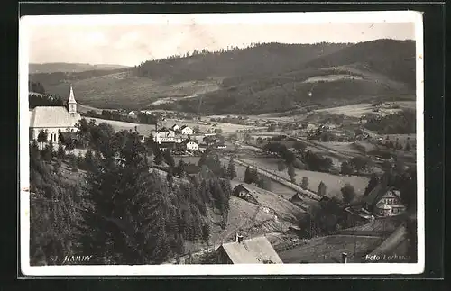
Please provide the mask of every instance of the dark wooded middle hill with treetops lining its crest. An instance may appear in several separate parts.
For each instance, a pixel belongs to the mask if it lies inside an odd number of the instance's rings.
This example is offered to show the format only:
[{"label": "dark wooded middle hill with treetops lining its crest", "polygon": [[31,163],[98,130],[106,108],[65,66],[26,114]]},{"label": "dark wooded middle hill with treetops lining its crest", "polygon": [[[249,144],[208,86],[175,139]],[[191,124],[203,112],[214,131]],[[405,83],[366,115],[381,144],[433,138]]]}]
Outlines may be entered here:
[{"label": "dark wooded middle hill with treetops lining its crest", "polygon": [[143,62],[136,73],[169,82],[203,80],[207,77],[243,77],[298,69],[309,60],[348,47],[346,43],[259,43],[239,49],[193,51],[184,56]]}]

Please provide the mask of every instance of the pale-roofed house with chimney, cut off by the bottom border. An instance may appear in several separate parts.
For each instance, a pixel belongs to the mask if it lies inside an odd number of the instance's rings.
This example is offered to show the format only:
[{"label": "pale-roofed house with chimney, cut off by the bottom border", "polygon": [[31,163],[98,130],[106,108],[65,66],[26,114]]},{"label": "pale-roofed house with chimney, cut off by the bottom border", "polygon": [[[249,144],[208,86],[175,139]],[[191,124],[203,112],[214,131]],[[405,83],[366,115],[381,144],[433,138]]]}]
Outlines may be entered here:
[{"label": "pale-roofed house with chimney, cut off by the bottom border", "polygon": [[218,264],[283,264],[265,237],[244,240],[236,234],[235,241],[224,243],[216,250]]}]

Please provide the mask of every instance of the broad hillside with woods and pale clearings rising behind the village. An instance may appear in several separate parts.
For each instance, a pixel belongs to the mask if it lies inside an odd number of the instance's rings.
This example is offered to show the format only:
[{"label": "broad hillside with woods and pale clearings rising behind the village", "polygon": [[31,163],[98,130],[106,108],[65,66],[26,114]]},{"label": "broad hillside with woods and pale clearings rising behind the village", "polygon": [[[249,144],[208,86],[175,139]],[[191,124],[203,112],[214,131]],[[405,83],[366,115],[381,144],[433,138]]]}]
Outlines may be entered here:
[{"label": "broad hillside with woods and pale clearings rising behind the village", "polygon": [[[390,53],[387,53],[390,52]],[[32,74],[51,94],[99,108],[263,114],[307,105],[415,100],[414,41],[266,43],[143,62],[136,68]]]}]

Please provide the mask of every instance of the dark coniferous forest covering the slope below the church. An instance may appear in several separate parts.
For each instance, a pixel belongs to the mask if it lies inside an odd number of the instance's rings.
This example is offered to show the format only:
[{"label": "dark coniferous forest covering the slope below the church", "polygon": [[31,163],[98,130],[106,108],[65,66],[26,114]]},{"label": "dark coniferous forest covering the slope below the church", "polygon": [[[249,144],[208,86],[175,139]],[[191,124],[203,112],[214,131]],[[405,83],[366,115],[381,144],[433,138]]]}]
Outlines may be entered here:
[{"label": "dark coniferous forest covering the slope below the church", "polygon": [[[142,143],[136,132],[84,119],[78,128],[84,157],[68,142],[30,147],[32,266],[68,253],[92,255],[89,264],[160,264],[185,253],[186,241],[208,241],[209,211],[226,219],[231,186],[209,169],[214,157],[204,157],[201,179],[179,165],[162,177],[152,171],[152,136]],[[86,182],[69,181],[66,166]]]}]

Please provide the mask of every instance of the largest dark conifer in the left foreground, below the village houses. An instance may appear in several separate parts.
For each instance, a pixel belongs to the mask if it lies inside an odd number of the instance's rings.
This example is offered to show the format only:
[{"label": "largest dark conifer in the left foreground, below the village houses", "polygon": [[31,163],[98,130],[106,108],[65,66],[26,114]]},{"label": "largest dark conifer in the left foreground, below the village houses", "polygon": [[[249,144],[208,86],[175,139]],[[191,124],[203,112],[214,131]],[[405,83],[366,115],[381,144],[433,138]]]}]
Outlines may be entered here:
[{"label": "largest dark conifer in the left foreground, below the village houses", "polygon": [[130,134],[121,150],[125,167],[109,157],[101,170],[88,173],[93,210],[80,225],[80,251],[102,253],[105,260],[98,263],[158,264],[170,253],[168,190],[148,172],[141,143]]}]

